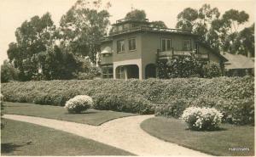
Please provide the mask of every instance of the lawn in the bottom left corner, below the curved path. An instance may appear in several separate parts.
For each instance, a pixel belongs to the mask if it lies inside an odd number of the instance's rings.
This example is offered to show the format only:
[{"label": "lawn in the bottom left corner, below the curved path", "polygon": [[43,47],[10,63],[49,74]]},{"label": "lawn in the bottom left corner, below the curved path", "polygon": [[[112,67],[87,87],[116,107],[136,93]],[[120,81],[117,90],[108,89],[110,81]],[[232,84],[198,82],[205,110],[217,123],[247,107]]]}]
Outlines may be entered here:
[{"label": "lawn in the bottom left corner, below the curved path", "polygon": [[2,155],[132,155],[124,150],[45,126],[3,119]]}]

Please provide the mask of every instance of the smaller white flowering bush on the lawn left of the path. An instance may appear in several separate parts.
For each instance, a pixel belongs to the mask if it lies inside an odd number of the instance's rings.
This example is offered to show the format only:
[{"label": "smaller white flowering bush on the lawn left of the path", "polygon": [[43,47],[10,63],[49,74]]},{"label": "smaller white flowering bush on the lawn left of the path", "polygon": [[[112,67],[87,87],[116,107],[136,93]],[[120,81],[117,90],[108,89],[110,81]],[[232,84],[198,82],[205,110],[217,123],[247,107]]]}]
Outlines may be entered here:
[{"label": "smaller white flowering bush on the lawn left of the path", "polygon": [[65,107],[69,113],[80,113],[86,109],[90,109],[92,107],[93,101],[87,95],[78,95],[74,98],[69,99]]}]

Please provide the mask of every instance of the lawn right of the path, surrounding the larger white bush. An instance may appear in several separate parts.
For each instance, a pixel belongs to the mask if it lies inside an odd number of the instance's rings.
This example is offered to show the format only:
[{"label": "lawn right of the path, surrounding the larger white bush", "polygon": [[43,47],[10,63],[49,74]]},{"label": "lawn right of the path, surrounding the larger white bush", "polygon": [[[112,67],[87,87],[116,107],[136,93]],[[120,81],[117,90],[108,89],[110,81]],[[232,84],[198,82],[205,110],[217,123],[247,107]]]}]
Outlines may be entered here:
[{"label": "lawn right of the path, surrounding the larger white bush", "polygon": [[[143,121],[141,127],[154,137],[207,154],[254,156],[254,126],[222,124],[219,131],[196,132],[186,129],[180,120],[154,117]],[[232,151],[232,148],[247,148],[249,151]]]}]

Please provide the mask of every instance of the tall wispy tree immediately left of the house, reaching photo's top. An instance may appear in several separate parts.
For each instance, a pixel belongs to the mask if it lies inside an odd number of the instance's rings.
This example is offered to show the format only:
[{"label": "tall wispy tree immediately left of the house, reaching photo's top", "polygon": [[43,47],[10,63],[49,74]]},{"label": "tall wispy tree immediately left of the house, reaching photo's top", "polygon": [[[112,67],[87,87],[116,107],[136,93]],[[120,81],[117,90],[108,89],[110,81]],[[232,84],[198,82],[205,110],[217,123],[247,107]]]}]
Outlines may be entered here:
[{"label": "tall wispy tree immediately left of the house, reaching photo's top", "polygon": [[106,9],[100,10],[101,6],[101,1],[77,1],[67,14],[61,17],[58,30],[62,46],[76,55],[89,56],[94,63],[96,52],[99,50],[96,43],[107,34],[110,24],[110,14]]}]

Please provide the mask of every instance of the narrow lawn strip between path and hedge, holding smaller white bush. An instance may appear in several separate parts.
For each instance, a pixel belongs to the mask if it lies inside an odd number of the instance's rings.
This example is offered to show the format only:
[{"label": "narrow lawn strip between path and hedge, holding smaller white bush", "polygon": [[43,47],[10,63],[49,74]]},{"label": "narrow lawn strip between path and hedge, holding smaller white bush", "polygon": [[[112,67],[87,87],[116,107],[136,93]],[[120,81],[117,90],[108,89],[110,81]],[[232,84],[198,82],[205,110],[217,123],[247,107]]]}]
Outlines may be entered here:
[{"label": "narrow lawn strip between path and hedge, holding smaller white bush", "polygon": [[80,114],[68,114],[67,109],[60,106],[10,102],[4,102],[3,114],[38,116],[61,121],[90,124],[94,126],[99,126],[104,122],[116,118],[135,115],[131,113],[96,109],[88,109]]}]

